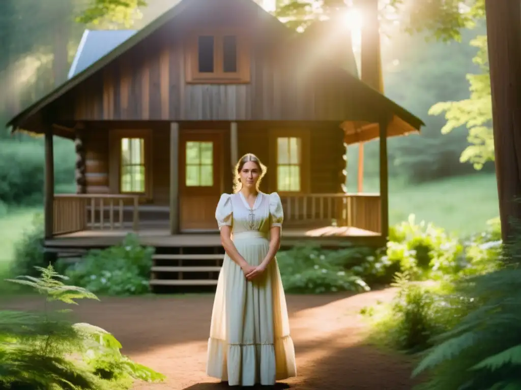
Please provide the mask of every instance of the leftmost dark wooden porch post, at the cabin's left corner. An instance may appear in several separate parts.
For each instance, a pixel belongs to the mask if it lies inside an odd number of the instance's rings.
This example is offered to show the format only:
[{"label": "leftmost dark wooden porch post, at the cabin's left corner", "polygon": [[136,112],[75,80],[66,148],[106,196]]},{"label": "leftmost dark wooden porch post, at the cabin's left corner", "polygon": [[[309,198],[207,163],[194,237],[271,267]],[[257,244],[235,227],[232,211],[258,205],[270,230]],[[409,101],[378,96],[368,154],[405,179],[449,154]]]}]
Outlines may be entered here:
[{"label": "leftmost dark wooden porch post, at the cabin's left corner", "polygon": [[54,148],[53,127],[45,126],[44,236],[53,237],[54,230]]}]

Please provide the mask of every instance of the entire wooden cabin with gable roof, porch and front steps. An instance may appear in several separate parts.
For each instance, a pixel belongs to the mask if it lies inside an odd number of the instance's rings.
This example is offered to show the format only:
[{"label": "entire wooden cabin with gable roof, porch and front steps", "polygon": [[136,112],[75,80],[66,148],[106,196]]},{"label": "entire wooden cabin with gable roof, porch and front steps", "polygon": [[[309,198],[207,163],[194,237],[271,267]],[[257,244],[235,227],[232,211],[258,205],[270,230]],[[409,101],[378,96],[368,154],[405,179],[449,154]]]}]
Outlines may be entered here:
[{"label": "entire wooden cabin with gable roof, porch and front steps", "polygon": [[[282,198],[283,247],[384,245],[387,138],[423,123],[308,35],[251,0],[182,0],[140,31],[85,32],[69,80],[8,123],[45,135],[46,250],[134,231],[157,249],[152,284],[215,284],[215,207],[247,152]],[[75,141],[76,194],[54,193],[53,136]],[[348,193],[346,146],[372,139],[380,193]]]}]

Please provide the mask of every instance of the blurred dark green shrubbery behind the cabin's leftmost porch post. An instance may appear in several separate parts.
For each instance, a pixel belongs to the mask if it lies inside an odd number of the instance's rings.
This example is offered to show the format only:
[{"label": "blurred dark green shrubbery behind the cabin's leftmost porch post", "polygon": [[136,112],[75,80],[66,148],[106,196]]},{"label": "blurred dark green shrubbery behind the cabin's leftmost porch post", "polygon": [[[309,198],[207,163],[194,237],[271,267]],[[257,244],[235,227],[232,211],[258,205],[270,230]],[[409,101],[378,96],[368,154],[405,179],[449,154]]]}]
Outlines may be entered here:
[{"label": "blurred dark green shrubbery behind the cabin's leftmost porch post", "polygon": [[[40,138],[0,142],[0,200],[7,204],[37,204],[43,199],[44,147]],[[70,140],[55,137],[55,185],[75,180],[76,153]]]}]

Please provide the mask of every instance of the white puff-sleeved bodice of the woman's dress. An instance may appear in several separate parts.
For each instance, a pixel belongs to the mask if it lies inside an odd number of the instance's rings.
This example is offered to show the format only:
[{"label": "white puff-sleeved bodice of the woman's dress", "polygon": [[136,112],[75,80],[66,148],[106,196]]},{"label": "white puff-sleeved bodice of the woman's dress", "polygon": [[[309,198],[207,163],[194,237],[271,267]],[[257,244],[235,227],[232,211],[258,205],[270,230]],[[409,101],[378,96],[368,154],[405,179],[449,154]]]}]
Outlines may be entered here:
[{"label": "white puff-sleeved bodice of the woman's dress", "polygon": [[253,208],[242,192],[224,193],[219,199],[215,218],[219,229],[231,226],[232,233],[259,231],[267,234],[272,226],[282,226],[284,218],[279,194],[258,192]]}]

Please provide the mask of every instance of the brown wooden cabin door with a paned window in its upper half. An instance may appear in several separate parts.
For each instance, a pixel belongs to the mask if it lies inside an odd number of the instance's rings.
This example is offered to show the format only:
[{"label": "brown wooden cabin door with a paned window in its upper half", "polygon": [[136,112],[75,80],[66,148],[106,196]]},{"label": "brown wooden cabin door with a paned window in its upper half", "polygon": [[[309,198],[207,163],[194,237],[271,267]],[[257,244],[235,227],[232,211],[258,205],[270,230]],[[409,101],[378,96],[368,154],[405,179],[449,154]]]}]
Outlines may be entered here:
[{"label": "brown wooden cabin door with a paned window in its upper half", "polygon": [[180,134],[179,227],[183,232],[217,230],[215,208],[222,182],[222,134]]}]

